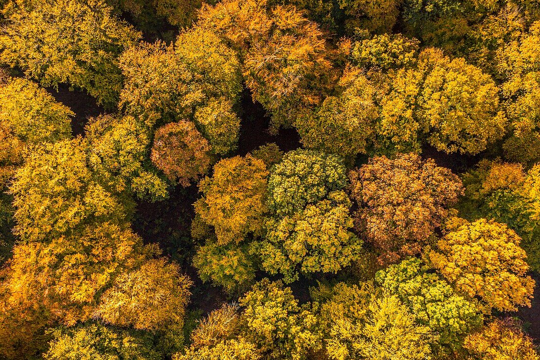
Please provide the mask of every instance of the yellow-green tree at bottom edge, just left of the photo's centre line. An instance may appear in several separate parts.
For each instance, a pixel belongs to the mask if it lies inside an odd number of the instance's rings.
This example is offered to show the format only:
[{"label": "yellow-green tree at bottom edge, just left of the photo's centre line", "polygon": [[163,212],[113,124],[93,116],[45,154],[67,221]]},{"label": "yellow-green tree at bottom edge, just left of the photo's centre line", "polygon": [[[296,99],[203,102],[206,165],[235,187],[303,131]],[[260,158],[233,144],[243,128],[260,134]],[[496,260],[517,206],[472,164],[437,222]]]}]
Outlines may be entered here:
[{"label": "yellow-green tree at bottom edge, just left of the photo's centre line", "polygon": [[306,306],[300,307],[290,288],[263,279],[240,299],[245,307],[245,338],[264,358],[302,360],[311,348],[320,346],[317,319]]}]

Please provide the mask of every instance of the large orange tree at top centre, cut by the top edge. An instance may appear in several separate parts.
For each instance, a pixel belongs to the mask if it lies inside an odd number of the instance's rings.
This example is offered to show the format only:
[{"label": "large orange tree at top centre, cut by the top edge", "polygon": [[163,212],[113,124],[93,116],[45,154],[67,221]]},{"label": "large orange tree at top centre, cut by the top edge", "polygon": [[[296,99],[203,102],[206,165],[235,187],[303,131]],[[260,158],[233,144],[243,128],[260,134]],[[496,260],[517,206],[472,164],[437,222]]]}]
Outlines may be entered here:
[{"label": "large orange tree at top centre, cut by the top edge", "polygon": [[239,52],[246,85],[272,113],[274,130],[291,126],[299,110],[320,102],[331,82],[322,32],[292,6],[228,0],[204,5],[198,24]]}]

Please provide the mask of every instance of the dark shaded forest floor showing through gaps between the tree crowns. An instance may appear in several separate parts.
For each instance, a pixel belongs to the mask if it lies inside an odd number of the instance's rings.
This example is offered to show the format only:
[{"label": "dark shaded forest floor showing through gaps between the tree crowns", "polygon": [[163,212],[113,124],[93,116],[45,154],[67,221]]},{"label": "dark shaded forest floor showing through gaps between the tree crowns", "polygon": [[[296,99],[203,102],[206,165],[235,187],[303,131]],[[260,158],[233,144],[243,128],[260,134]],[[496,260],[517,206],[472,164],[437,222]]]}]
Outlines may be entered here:
[{"label": "dark shaded forest floor showing through gaps between the tree crowns", "polygon": [[[52,88],[48,90],[57,101],[69,106],[75,112],[76,115],[72,121],[74,136],[84,136],[84,126],[89,117],[104,114],[104,109],[82,91],[69,91],[68,86],[65,85],[58,86],[58,91]],[[294,129],[281,129],[276,135],[268,132],[269,117],[260,104],[252,101],[247,91],[242,92],[241,108],[241,129],[237,151],[239,155],[245,155],[267,143],[276,143],[282,151],[300,147],[300,137]],[[448,155],[426,146],[422,151],[422,157],[433,158],[437,165],[460,174],[473,168],[478,159],[489,157],[489,155]],[[191,265],[191,258],[199,245],[190,237],[191,219],[194,216],[193,203],[197,198],[197,185],[193,184],[188,188],[177,186],[170,192],[170,197],[162,202],[138,201],[132,224],[133,230],[143,237],[145,242],[159,243],[164,254],[177,261],[186,274],[192,278],[194,286],[188,310],[197,310],[200,316],[218,308],[221,303],[232,302],[236,298],[227,296],[220,288],[203,283],[197,270]],[[535,298],[531,308],[521,307],[517,312],[499,314],[499,316],[517,317],[524,323],[524,328],[529,335],[540,344],[540,274],[532,273],[531,276],[536,280]],[[304,302],[309,300],[308,288],[312,285],[316,285],[315,281],[306,278],[291,284],[291,287],[295,296]]]}]

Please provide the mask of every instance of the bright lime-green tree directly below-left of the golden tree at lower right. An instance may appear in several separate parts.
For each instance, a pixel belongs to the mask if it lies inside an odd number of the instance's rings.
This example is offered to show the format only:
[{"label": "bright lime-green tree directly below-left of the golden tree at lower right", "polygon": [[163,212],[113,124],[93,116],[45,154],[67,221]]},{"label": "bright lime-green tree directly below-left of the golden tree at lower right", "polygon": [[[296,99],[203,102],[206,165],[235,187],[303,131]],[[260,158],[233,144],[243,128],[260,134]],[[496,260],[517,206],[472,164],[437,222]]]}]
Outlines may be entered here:
[{"label": "bright lime-green tree directly below-left of the golden tree at lower right", "polygon": [[411,258],[380,270],[375,279],[384,291],[399,297],[418,324],[440,335],[434,355],[451,354],[481,325],[482,315],[474,302],[455,294],[446,281],[426,271],[419,259]]}]

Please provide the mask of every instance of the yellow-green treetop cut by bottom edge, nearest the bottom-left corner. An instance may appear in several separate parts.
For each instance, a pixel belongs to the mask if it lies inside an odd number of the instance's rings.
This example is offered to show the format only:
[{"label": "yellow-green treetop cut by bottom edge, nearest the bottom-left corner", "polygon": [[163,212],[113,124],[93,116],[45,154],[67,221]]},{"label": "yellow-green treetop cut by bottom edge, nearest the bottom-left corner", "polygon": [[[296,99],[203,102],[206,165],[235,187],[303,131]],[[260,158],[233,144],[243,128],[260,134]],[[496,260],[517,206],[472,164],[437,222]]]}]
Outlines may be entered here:
[{"label": "yellow-green treetop cut by bottom edge, nearest the bottom-left corner", "polygon": [[159,360],[163,358],[154,348],[150,334],[86,323],[75,328],[63,326],[52,331],[53,339],[44,354],[47,360]]}]

